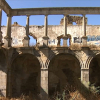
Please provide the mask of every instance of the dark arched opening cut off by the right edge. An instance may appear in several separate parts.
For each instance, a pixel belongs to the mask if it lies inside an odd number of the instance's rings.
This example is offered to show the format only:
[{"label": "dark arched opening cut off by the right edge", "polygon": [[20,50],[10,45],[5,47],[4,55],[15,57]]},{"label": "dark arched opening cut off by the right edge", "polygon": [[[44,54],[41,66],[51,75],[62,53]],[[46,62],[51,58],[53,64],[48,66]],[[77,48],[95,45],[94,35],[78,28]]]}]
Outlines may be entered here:
[{"label": "dark arched opening cut off by the right edge", "polygon": [[89,81],[95,87],[100,86],[100,54],[96,55],[90,62]]}]

